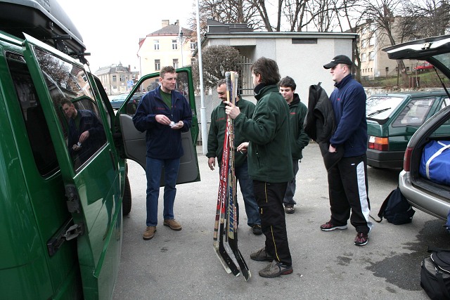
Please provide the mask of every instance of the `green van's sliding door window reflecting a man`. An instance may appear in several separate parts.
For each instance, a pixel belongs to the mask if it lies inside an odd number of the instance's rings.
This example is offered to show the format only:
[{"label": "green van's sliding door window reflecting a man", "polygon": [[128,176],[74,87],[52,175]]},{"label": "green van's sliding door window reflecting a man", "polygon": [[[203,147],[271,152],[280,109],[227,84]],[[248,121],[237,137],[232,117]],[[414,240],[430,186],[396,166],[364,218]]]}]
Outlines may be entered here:
[{"label": "green van's sliding door window reflecting a man", "polygon": [[77,171],[106,143],[105,129],[86,73],[41,48],[34,48]]}]

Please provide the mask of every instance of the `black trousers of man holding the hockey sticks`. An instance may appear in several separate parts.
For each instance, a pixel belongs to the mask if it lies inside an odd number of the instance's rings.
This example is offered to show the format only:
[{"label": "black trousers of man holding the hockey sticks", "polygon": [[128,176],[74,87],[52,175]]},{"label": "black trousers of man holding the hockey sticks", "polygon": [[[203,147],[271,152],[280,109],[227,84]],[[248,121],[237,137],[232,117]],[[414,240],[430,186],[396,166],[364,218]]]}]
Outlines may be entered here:
[{"label": "black trousers of man holding the hockey sticks", "polygon": [[291,266],[288,233],[283,208],[283,197],[288,183],[253,181],[255,197],[261,216],[262,233],[266,236],[266,252],[276,261]]}]

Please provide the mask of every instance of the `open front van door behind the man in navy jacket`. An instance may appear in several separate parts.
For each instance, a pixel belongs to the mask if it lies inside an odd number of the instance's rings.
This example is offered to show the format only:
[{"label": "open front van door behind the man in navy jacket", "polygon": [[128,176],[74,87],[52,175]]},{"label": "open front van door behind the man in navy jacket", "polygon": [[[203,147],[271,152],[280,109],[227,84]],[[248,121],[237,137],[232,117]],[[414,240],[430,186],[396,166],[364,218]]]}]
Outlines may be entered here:
[{"label": "open front van door behind the man in navy jacket", "polygon": [[[198,138],[198,118],[197,110],[195,109],[191,68],[178,69],[176,73],[176,91],[185,96],[191,105],[193,113],[191,129],[181,133],[184,155],[180,159],[180,169],[176,180],[176,183],[180,184],[200,181],[200,171],[198,169],[197,150],[195,147]],[[158,87],[159,76],[159,73],[153,73],[139,79],[116,115],[117,130],[122,133],[124,143],[124,156],[138,162],[144,170],[146,169],[147,152],[146,132],[138,131],[134,127],[132,118],[143,95]],[[164,185],[164,171],[161,177],[161,185]]]}]

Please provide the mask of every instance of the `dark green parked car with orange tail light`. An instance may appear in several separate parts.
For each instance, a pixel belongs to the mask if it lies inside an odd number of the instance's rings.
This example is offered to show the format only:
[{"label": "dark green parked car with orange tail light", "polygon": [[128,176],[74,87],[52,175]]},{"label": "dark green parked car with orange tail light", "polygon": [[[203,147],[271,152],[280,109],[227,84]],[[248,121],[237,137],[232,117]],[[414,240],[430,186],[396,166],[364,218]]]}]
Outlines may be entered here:
[{"label": "dark green parked car with orange tail light", "polygon": [[413,133],[448,105],[448,101],[449,96],[443,89],[368,97],[367,164],[377,168],[401,168],[406,145]]}]

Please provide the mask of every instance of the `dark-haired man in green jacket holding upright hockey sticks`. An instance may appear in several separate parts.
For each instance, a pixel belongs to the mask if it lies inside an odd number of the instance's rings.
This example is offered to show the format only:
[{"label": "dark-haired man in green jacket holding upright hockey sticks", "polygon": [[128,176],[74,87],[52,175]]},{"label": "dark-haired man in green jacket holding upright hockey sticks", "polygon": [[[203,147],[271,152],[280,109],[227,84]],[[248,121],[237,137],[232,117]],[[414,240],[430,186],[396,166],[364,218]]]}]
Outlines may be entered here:
[{"label": "dark-haired man in green jacket holding upright hockey sticks", "polygon": [[252,65],[257,104],[250,119],[239,107],[226,102],[226,114],[234,119],[234,128],[250,143],[238,150],[248,152],[248,173],[253,180],[255,197],[266,242],[250,254],[255,261],[271,261],[259,276],[274,278],[293,273],[283,197],[288,181],[294,177],[290,152],[289,107],[278,90],[280,72],[275,60],[259,58]]}]

